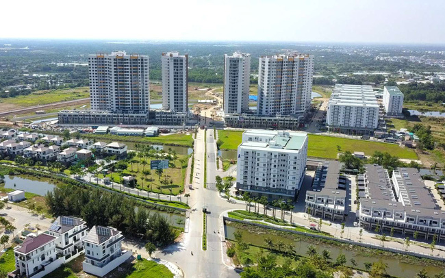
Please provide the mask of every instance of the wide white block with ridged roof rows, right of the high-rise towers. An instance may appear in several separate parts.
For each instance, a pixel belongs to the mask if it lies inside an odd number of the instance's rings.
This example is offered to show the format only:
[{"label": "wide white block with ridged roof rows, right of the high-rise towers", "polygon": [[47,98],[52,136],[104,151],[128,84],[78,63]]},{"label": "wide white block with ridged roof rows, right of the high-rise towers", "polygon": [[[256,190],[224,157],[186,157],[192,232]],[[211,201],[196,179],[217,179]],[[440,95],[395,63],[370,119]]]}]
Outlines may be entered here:
[{"label": "wide white block with ridged roof rows, right of the high-rise towers", "polygon": [[330,130],[368,130],[379,124],[379,104],[371,86],[336,84],[329,99]]}]

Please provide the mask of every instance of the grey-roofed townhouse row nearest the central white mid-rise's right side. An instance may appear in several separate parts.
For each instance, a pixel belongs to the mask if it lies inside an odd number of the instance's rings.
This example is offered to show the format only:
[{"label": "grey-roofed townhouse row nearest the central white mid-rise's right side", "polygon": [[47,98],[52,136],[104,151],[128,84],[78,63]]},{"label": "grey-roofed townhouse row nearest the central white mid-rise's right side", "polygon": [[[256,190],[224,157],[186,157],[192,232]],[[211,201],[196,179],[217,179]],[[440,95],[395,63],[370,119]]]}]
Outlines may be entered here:
[{"label": "grey-roofed townhouse row nearest the central white mid-rise's right side", "polygon": [[306,191],[305,205],[306,212],[314,216],[344,221],[346,176],[340,175],[340,162],[320,162],[312,187]]}]

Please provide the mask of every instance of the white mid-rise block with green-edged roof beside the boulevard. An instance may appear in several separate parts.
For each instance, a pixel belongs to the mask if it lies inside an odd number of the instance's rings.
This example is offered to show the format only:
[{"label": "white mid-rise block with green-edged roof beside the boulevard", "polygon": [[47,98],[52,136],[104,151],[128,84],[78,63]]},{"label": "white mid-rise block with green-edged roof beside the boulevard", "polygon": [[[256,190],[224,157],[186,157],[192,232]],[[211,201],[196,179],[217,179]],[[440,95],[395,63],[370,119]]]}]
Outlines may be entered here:
[{"label": "white mid-rise block with green-edged roof beside the boulevard", "polygon": [[236,188],[269,199],[294,199],[307,159],[307,134],[249,129],[238,146]]}]

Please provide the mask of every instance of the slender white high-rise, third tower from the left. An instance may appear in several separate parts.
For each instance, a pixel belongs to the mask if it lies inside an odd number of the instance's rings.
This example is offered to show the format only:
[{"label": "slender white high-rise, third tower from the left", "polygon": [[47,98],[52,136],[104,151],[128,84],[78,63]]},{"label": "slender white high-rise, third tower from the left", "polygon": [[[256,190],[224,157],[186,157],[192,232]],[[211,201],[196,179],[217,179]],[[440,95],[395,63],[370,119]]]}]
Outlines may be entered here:
[{"label": "slender white high-rise, third tower from the left", "polygon": [[223,101],[225,114],[249,111],[250,73],[250,54],[238,52],[231,56],[225,54]]}]

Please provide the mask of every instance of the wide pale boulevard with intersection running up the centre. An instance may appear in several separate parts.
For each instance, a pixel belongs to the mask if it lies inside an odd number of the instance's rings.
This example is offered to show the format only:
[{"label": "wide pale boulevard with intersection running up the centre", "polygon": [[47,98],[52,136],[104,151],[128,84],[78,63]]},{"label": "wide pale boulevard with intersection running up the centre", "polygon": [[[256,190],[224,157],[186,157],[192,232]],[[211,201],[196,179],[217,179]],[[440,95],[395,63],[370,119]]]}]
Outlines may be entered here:
[{"label": "wide pale boulevard with intersection running up the centre", "polygon": [[[212,134],[212,135],[210,135]],[[207,131],[207,153],[213,154],[215,149],[209,144],[212,142],[213,133]],[[204,189],[204,131],[199,130],[195,140],[195,175],[193,187],[190,194],[189,204],[192,207],[190,211],[190,229],[184,233],[183,240],[177,244],[158,251],[155,255],[177,264],[186,277],[239,277],[238,273],[223,263],[223,244],[221,240],[224,236],[223,223],[219,218],[225,210],[229,208],[242,209],[244,204],[232,204],[218,197],[216,190]],[[216,164],[207,157],[207,182],[214,183],[216,175]],[[212,162],[213,161],[213,162]],[[199,170],[197,170],[199,169]],[[203,233],[203,212],[202,207],[206,205],[209,213],[207,214],[207,251],[202,251],[202,233]],[[215,233],[214,233],[215,231]],[[193,256],[190,252],[193,252]]]}]

